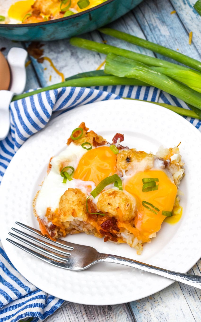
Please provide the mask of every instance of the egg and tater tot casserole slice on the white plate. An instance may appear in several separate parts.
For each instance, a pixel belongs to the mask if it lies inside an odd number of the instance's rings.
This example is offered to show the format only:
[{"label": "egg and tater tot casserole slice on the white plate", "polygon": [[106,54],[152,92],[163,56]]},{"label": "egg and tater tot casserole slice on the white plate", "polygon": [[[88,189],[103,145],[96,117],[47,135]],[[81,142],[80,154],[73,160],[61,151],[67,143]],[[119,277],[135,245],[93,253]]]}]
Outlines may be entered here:
[{"label": "egg and tater tot casserole slice on the white plate", "polygon": [[[104,241],[126,242],[140,254],[174,206],[178,212],[177,187],[184,174],[178,147],[153,155],[123,147],[114,138],[111,148],[103,137],[88,132],[85,123],[75,130],[65,150],[51,159],[34,199],[42,233],[56,239],[85,232]],[[74,171],[63,181],[65,167]],[[114,180],[103,185],[114,175],[122,187]]]}]

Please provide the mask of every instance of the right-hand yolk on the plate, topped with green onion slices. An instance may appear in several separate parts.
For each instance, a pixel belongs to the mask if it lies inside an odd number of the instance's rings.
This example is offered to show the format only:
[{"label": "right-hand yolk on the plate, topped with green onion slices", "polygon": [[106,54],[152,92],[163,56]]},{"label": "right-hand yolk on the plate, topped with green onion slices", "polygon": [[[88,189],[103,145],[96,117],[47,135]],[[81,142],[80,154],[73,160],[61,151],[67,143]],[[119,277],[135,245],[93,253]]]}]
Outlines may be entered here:
[{"label": "right-hand yolk on the plate, topped with green onion slices", "polygon": [[[158,189],[155,191],[143,192],[143,178],[158,178],[158,182],[156,182]],[[150,234],[158,232],[162,222],[166,218],[166,216],[162,215],[162,211],[172,211],[173,209],[177,194],[176,185],[164,171],[146,170],[138,172],[131,177],[126,182],[124,189],[132,194],[137,200],[137,214],[134,219],[134,224],[136,229],[141,233],[142,240],[144,237],[148,237]],[[155,214],[146,209],[142,205],[143,201],[153,204],[160,211]],[[151,206],[149,207],[152,208]]]}]

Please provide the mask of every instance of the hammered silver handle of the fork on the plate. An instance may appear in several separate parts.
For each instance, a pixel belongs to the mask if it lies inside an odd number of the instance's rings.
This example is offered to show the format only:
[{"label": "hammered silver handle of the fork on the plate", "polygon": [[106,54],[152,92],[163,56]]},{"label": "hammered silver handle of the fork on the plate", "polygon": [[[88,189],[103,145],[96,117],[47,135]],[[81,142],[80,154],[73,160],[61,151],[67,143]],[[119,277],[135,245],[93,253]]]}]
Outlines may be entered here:
[{"label": "hammered silver handle of the fork on the plate", "polygon": [[169,279],[174,279],[177,282],[181,282],[181,283],[196,287],[198,289],[201,289],[201,276],[198,276],[198,275],[174,272],[171,270],[165,270],[160,267],[151,266],[149,264],[145,264],[137,260],[131,260],[126,257],[99,253],[98,262],[101,262],[101,261],[116,263],[116,264],[123,264],[126,266],[137,268],[139,270],[144,270],[149,273],[154,273],[163,277],[167,277]]}]

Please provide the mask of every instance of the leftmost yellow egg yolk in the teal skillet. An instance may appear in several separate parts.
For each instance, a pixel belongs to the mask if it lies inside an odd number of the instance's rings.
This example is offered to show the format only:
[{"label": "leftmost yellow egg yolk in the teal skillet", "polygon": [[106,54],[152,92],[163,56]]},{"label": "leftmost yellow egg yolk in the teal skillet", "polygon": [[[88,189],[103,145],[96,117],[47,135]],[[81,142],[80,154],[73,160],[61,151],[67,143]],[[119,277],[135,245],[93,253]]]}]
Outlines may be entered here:
[{"label": "leftmost yellow egg yolk in the teal skillet", "polygon": [[17,1],[10,6],[8,16],[12,19],[22,21],[25,15],[31,10],[34,0]]}]

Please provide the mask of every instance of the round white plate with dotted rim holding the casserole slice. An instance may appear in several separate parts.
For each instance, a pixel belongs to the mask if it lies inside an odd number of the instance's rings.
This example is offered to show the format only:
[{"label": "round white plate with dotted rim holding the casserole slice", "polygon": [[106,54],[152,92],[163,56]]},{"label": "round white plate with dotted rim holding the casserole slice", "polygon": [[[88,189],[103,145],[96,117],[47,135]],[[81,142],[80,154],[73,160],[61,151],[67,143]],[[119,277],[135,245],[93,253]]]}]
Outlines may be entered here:
[{"label": "round white plate with dotted rim holding the casserole slice", "polygon": [[[69,235],[67,241],[90,245],[97,251],[125,256],[151,265],[186,272],[201,256],[201,135],[188,121],[154,104],[108,100],[75,108],[55,118],[17,151],[0,186],[0,237],[16,269],[45,292],[71,302],[112,305],[144,298],[173,281],[123,265],[99,263],[73,272],[57,268],[27,254],[5,240],[15,221],[38,229],[32,200],[42,182],[49,158],[64,147],[72,129],[82,121],[108,141],[124,133],[124,144],[156,153],[158,147],[174,147],[181,141],[186,175],[180,186],[183,215],[170,225],[163,223],[156,238],[145,244],[142,255],[126,244],[116,245],[85,234]],[[16,227],[18,228],[18,227]]]}]

